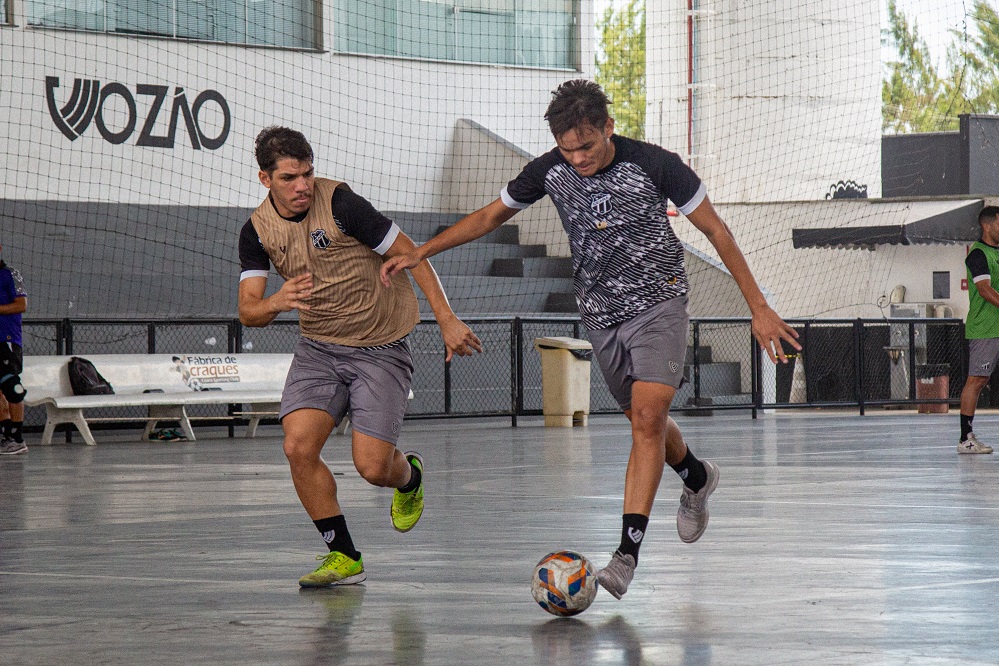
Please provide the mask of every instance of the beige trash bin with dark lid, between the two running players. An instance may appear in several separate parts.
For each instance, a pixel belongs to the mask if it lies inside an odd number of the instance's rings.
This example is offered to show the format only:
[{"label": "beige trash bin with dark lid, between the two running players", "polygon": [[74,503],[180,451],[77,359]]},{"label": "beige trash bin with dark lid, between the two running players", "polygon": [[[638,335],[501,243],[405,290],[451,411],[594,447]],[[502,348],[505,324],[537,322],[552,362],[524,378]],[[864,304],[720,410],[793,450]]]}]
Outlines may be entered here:
[{"label": "beige trash bin with dark lid, between the two running players", "polygon": [[541,354],[541,397],[545,425],[586,425],[590,413],[593,346],[576,338],[535,338]]}]

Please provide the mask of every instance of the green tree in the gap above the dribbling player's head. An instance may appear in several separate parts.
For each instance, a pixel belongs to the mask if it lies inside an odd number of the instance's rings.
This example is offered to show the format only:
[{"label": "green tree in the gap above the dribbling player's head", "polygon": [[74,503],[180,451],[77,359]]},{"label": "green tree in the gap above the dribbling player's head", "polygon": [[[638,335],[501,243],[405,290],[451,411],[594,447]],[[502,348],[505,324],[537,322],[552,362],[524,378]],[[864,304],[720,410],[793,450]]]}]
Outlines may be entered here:
[{"label": "green tree in the gap above the dribbling player's head", "polygon": [[596,80],[612,103],[615,131],[645,138],[645,2],[610,5],[597,19]]}]

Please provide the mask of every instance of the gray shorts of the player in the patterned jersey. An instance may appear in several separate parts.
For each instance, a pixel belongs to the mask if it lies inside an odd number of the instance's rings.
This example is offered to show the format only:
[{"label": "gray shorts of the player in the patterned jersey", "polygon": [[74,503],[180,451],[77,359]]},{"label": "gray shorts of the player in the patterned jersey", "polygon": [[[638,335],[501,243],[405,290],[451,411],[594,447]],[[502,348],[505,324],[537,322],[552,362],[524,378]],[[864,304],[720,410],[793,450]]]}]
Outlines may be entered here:
[{"label": "gray shorts of the player in the patterned jersey", "polygon": [[621,409],[631,409],[631,385],[636,381],[680,388],[689,322],[684,295],[617,326],[589,332],[593,355]]}]

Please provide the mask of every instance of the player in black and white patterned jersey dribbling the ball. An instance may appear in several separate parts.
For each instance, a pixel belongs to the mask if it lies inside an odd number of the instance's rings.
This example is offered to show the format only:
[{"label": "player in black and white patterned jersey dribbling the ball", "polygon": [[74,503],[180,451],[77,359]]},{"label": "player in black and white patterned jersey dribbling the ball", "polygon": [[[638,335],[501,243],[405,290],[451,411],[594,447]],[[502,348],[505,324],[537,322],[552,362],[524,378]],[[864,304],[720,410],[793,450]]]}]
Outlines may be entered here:
[{"label": "player in black and white patterned jersey dribbling the ball", "polygon": [[416,249],[382,266],[383,282],[404,268],[493,231],[545,195],[569,235],[573,286],[583,324],[611,393],[631,420],[621,543],[598,572],[618,599],[627,591],[649,523],[664,464],[683,480],[677,532],[697,541],[708,524],[707,500],[718,467],[691,453],[669,407],[683,379],[687,345],[687,275],[673,233],[673,201],[714,245],[752,313],[753,335],[776,362],[782,341],[797,334],[767,304],[731,231],[704,184],[678,155],[614,134],[608,99],[585,80],[563,83],[545,119],[557,147],[531,161],[498,199]]}]

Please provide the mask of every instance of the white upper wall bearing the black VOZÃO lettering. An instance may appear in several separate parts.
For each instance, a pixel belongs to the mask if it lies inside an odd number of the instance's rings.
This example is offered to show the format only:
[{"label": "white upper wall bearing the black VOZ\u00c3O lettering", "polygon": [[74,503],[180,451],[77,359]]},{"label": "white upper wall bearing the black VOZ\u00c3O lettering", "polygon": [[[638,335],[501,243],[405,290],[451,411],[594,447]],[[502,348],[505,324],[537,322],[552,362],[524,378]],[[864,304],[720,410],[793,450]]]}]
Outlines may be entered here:
[{"label": "white upper wall bearing the black VOZ\u00c3O lettering", "polygon": [[[583,2],[582,72],[465,65],[184,43],[24,27],[0,28],[0,153],[7,159],[0,198],[253,206],[265,190],[256,177],[253,139],[266,125],[301,129],[316,152],[319,175],[352,184],[391,210],[446,208],[447,160],[459,118],[471,118],[527,149],[551,145],[543,120],[549,92],[566,79],[592,77],[592,2]],[[332,44],[333,11],[325,8],[324,43]],[[74,141],[49,116],[45,78],[58,76],[59,106],[73,79],[119,82],[136,100],[130,140],[105,141],[93,123]],[[232,114],[226,143],[194,150],[178,123],[174,148],[136,145],[151,97],[139,84],[170,86],[156,134],[166,134],[175,86],[188,103],[220,92]],[[106,103],[112,131],[125,124],[120,97]],[[203,123],[217,134],[218,107]]]}]

